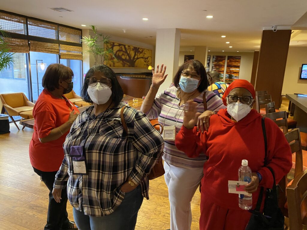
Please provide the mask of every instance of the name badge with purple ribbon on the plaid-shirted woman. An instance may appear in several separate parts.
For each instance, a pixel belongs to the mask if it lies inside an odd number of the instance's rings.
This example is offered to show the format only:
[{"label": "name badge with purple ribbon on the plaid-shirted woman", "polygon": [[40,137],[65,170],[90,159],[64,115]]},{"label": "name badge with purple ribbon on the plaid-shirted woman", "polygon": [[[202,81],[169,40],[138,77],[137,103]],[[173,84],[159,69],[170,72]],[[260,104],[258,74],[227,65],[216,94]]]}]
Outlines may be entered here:
[{"label": "name badge with purple ribbon on the plaid-shirted woman", "polygon": [[83,146],[70,147],[70,156],[72,157],[72,172],[73,174],[86,175],[86,163],[83,156]]}]

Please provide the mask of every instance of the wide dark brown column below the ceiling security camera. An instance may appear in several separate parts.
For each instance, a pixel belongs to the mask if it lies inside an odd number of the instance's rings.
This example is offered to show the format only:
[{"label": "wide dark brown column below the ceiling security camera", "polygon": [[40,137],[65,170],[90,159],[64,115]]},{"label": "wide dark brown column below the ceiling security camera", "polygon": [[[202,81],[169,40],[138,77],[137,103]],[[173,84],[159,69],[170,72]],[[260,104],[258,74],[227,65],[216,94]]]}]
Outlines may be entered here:
[{"label": "wide dark brown column below the ceiling security camera", "polygon": [[276,108],[280,107],[290,36],[291,30],[262,31],[255,90],[267,90]]}]

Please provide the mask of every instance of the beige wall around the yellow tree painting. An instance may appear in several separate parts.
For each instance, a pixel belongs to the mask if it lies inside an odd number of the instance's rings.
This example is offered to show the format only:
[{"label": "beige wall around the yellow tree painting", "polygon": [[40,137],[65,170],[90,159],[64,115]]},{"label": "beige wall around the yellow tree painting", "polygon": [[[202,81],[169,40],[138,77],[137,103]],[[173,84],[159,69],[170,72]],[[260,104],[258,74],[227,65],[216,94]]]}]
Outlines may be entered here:
[{"label": "beige wall around the yellow tree painting", "polygon": [[[103,33],[103,32],[98,31],[98,33]],[[88,36],[88,34],[89,34],[88,29],[83,29],[82,34],[83,34],[83,36]],[[154,61],[155,61],[155,46],[154,45],[130,40],[130,39],[123,38],[123,37],[118,37],[118,36],[113,36],[113,35],[110,35],[110,36],[111,36],[111,38],[110,38],[111,41],[116,41],[116,42],[123,43],[123,44],[128,44],[128,45],[138,46],[138,47],[142,47],[142,48],[146,48],[146,49],[151,49],[153,51],[152,52],[152,66],[154,66]],[[93,58],[91,57],[92,55],[89,55],[86,52],[87,47],[84,44],[82,46],[82,49],[83,49],[83,72],[86,73],[88,71],[88,69],[90,67],[92,67],[94,61],[93,61]],[[112,68],[112,69],[114,70],[115,73],[151,72],[151,70],[148,70],[148,68]]]}]

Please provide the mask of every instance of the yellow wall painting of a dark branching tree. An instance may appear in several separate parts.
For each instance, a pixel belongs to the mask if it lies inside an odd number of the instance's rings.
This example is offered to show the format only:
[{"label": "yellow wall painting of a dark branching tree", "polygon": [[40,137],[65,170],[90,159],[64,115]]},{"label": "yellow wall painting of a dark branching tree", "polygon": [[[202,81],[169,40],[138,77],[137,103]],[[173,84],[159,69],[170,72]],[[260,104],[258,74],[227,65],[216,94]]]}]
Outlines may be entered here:
[{"label": "yellow wall painting of a dark branching tree", "polygon": [[110,41],[108,48],[114,51],[114,56],[109,56],[107,65],[110,67],[148,68],[152,62],[152,50],[132,45]]}]

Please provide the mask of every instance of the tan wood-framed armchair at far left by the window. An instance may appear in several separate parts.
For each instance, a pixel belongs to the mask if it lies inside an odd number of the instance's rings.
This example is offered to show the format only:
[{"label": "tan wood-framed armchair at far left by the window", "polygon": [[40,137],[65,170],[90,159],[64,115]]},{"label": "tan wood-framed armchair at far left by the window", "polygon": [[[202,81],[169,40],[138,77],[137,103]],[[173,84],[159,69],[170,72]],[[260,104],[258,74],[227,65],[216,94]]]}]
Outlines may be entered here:
[{"label": "tan wood-framed armchair at far left by the window", "polygon": [[0,99],[3,104],[1,112],[5,111],[19,130],[13,116],[21,116],[20,113],[33,110],[34,103],[30,102],[24,93],[0,94]]}]

